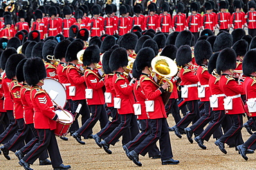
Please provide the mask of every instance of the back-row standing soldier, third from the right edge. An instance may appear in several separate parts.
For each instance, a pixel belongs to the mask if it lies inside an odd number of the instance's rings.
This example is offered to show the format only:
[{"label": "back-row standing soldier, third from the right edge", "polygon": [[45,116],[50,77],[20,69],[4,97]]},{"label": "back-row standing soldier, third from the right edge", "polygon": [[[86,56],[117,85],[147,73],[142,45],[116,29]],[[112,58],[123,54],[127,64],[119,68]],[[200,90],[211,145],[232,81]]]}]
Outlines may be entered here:
[{"label": "back-row standing soldier, third from the right edge", "polygon": [[228,4],[226,1],[220,1],[219,2],[219,9],[220,12],[216,15],[216,27],[221,31],[229,32],[230,28],[230,13],[226,12],[226,9],[228,8]]}]

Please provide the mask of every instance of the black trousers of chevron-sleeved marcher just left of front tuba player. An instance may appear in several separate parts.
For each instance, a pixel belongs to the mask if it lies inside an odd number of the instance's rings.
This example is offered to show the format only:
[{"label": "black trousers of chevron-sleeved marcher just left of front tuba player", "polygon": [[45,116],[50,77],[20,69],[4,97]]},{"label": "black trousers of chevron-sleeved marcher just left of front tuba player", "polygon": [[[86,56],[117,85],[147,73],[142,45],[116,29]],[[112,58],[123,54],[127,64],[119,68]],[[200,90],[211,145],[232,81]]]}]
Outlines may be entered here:
[{"label": "black trousers of chevron-sleeved marcher just left of front tuba player", "polygon": [[[125,134],[125,132],[127,131],[128,132],[126,133],[126,135],[123,136],[123,138],[125,139],[123,139],[122,145],[125,145],[127,142],[132,140],[132,136],[134,136],[135,138],[135,136],[138,134],[138,124],[136,116],[134,114],[119,114],[119,116],[120,124],[118,125],[118,127],[116,127],[107,138],[104,138],[105,142],[107,142],[108,144],[115,145],[120,136],[122,136],[122,134]],[[135,123],[137,125],[135,125]],[[134,125],[132,129],[130,129],[130,125]]]}]

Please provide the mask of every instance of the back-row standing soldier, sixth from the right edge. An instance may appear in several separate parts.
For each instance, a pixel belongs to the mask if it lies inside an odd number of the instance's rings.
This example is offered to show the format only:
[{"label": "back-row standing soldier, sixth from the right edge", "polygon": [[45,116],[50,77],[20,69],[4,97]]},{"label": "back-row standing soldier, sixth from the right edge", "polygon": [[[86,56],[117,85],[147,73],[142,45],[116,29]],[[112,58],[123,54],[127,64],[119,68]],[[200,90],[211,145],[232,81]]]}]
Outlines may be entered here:
[{"label": "back-row standing soldier, sixth from the right edge", "polygon": [[172,30],[176,32],[181,32],[185,30],[186,26],[186,17],[184,12],[184,5],[183,3],[178,3],[176,6],[177,14],[172,19]]}]

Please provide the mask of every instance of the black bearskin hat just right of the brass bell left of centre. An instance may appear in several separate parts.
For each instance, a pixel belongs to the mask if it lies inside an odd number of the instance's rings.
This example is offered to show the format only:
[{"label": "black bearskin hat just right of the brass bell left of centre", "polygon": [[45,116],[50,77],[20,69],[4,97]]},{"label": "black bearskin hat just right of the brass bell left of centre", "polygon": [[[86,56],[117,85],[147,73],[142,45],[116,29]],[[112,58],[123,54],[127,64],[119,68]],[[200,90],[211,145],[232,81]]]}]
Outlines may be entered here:
[{"label": "black bearskin hat just right of the brass bell left of centre", "polygon": [[91,45],[86,47],[82,58],[84,65],[91,65],[92,63],[99,63],[100,61],[100,48],[98,45]]}]

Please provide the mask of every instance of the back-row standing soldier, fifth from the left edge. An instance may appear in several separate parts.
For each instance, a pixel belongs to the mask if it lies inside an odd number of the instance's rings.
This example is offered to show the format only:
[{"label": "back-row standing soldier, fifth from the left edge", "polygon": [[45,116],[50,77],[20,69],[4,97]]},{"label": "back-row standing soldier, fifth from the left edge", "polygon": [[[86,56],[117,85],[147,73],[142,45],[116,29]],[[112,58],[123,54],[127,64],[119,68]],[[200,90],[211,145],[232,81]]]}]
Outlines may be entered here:
[{"label": "back-row standing soldier, fifth from the left edge", "polygon": [[74,21],[71,19],[71,8],[69,6],[64,6],[63,15],[64,19],[62,22],[62,34],[65,38],[69,37],[69,28],[73,25]]}]

